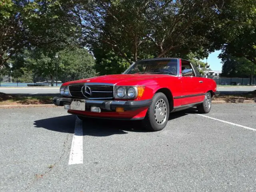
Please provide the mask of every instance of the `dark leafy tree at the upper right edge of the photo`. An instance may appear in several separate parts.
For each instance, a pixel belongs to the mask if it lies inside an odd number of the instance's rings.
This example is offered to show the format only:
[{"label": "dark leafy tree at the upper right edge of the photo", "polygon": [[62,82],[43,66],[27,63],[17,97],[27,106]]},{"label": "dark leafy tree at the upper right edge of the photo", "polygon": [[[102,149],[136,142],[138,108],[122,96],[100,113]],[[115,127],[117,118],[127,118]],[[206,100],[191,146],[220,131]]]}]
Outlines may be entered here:
[{"label": "dark leafy tree at the upper right edge of the photo", "polygon": [[215,44],[221,44],[224,55],[246,58],[252,62],[250,66],[250,84],[252,84],[256,67],[256,1],[232,0],[226,3],[219,14],[219,23],[214,37]]}]

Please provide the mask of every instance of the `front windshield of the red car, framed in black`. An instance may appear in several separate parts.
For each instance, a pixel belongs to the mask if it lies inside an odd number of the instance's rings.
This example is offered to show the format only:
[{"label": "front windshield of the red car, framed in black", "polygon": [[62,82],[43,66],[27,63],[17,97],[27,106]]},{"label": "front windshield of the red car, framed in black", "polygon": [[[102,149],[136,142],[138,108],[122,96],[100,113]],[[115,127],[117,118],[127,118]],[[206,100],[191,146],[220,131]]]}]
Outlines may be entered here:
[{"label": "front windshield of the red car, framed in black", "polygon": [[156,59],[137,61],[124,74],[178,74],[178,59]]}]

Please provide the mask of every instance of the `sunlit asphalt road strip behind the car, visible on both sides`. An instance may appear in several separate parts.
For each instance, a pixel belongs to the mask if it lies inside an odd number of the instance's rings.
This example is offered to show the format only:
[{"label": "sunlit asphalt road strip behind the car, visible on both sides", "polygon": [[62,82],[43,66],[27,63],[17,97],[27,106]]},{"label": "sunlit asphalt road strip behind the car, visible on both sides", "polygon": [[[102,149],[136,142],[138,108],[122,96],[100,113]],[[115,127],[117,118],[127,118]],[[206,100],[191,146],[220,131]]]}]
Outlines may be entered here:
[{"label": "sunlit asphalt road strip behind the car, visible on both sides", "polygon": [[[0,92],[6,94],[23,94],[23,95],[58,95],[60,88],[0,88]],[[217,90],[224,94],[236,94],[243,92],[250,92],[256,90],[256,86],[245,86],[245,87],[217,87]]]}]

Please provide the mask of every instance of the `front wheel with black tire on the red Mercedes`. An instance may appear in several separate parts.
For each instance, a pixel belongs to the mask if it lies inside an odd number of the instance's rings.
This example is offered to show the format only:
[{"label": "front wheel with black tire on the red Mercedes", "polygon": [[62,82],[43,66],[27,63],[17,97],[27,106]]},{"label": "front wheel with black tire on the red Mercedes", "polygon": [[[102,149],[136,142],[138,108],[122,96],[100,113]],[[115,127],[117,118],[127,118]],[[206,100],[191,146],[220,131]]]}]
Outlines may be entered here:
[{"label": "front wheel with black tire on the red Mercedes", "polygon": [[166,126],[169,113],[169,102],[165,94],[162,92],[156,93],[153,96],[152,104],[148,108],[146,117],[142,120],[143,126],[150,131],[160,131]]}]

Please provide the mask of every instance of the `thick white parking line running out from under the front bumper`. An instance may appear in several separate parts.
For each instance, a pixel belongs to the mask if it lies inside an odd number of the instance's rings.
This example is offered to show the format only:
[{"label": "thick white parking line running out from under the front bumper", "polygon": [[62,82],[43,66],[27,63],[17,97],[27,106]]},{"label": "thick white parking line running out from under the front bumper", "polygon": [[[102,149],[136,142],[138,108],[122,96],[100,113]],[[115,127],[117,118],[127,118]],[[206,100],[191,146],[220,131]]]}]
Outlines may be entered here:
[{"label": "thick white parking line running out from under the front bumper", "polygon": [[82,121],[76,117],[76,124],[68,164],[82,164],[83,158],[83,126]]}]

